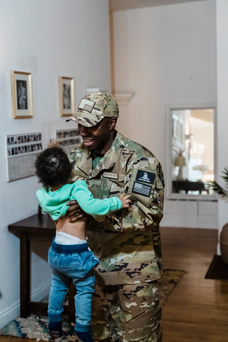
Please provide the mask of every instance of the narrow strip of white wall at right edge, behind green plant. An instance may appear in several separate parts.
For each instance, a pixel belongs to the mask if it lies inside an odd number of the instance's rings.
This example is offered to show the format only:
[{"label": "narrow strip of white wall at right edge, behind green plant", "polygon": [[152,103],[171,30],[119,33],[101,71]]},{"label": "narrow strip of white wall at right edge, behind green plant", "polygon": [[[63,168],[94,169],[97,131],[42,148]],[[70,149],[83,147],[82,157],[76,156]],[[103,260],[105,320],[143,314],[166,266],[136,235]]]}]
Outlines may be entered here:
[{"label": "narrow strip of white wall at right edge, behind green plant", "polygon": [[[227,89],[228,89],[228,1],[216,1],[216,22],[217,22],[217,89],[218,89],[218,175],[222,175],[224,167],[228,166],[228,137],[227,137]],[[222,178],[218,177],[220,185],[226,186]],[[228,202],[219,199],[218,202],[218,227],[219,234],[225,223],[228,222]],[[218,245],[219,253],[219,245]]]}]

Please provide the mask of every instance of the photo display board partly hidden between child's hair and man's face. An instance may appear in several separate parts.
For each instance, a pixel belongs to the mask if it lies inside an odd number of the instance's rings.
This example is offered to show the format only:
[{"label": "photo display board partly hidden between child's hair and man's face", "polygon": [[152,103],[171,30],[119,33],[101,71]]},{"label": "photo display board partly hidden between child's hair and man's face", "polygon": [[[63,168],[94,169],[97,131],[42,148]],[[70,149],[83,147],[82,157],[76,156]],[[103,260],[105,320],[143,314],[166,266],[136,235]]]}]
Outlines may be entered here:
[{"label": "photo display board partly hidden between child's hair and man's face", "polygon": [[56,131],[56,142],[69,154],[78,144],[82,142],[77,129],[63,129]]}]

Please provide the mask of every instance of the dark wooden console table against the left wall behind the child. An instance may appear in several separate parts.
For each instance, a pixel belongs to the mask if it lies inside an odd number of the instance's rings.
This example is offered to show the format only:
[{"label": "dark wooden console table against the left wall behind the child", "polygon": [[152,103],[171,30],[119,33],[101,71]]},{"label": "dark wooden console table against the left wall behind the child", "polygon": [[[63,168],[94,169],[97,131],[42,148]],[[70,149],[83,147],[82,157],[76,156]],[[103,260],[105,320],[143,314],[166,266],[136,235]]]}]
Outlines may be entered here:
[{"label": "dark wooden console table against the left wall behind the child", "polygon": [[[9,232],[20,239],[20,305],[21,317],[28,317],[31,312],[45,312],[48,303],[32,302],[30,296],[30,241],[51,241],[55,236],[55,225],[48,214],[30,216],[8,226]],[[64,314],[69,322],[75,322],[75,287],[71,282],[68,293],[68,305],[64,305]]]}]

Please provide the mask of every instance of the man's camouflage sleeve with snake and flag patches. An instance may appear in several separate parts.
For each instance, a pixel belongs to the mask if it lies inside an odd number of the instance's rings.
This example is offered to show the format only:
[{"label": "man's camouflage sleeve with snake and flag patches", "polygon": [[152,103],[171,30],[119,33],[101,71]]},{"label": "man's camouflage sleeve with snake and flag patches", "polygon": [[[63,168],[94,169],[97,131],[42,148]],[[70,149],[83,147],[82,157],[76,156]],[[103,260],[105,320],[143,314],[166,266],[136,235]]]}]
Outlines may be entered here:
[{"label": "man's camouflage sleeve with snake and flag patches", "polygon": [[115,220],[114,228],[121,232],[151,227],[156,231],[163,217],[164,201],[164,179],[159,161],[148,156],[130,161],[124,188],[131,195],[131,208],[111,213],[107,219]]}]

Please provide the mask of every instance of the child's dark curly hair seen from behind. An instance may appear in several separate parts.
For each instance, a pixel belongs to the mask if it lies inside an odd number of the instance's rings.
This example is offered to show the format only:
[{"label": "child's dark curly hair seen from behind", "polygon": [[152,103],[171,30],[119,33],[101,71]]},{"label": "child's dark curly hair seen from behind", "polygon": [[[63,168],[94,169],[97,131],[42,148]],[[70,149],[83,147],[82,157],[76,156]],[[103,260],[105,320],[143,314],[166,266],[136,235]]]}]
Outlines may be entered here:
[{"label": "child's dark curly hair seen from behind", "polygon": [[36,175],[43,186],[66,184],[72,172],[70,161],[61,147],[50,147],[37,155]]}]

